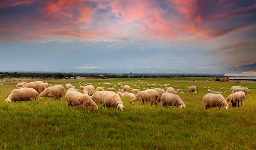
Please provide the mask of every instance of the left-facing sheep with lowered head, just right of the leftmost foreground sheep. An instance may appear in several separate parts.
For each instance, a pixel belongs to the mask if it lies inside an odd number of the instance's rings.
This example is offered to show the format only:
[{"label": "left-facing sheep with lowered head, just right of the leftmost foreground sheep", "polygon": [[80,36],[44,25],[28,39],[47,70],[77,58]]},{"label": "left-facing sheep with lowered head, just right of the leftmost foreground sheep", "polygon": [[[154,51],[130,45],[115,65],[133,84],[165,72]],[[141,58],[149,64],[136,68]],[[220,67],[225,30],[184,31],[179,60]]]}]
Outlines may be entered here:
[{"label": "left-facing sheep with lowered head, just right of the leftmost foreground sheep", "polygon": [[39,94],[39,98],[41,97],[56,97],[58,99],[64,96],[65,89],[62,85],[54,85],[46,88],[42,93]]}]

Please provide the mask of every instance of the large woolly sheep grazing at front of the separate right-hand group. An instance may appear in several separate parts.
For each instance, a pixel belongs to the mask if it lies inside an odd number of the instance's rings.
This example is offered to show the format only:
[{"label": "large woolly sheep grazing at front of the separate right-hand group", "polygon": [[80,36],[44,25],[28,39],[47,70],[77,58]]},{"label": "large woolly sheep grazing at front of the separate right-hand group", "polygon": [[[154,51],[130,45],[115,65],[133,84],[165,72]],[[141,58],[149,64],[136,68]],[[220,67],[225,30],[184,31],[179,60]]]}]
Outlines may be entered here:
[{"label": "large woolly sheep grazing at front of the separate right-hand group", "polygon": [[228,104],[226,99],[221,94],[208,93],[203,97],[203,105],[205,109],[217,107],[217,110],[221,110],[223,106],[225,110],[228,110]]}]

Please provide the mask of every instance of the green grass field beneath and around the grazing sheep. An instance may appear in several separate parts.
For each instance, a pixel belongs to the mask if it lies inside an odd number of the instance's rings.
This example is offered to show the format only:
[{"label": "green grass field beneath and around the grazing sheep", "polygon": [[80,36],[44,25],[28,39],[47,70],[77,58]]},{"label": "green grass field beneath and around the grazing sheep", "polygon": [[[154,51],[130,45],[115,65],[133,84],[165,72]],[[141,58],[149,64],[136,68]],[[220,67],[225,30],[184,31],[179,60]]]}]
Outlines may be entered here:
[{"label": "green grass field beneath and around the grazing sheep", "polygon": [[[194,78],[193,78],[194,79]],[[6,82],[9,80],[9,82]],[[130,99],[122,98],[125,110],[103,108],[94,112],[91,108],[81,111],[80,107],[67,108],[64,98],[36,99],[36,102],[4,103],[19,80],[1,79],[0,83],[0,149],[256,149],[256,85],[239,84],[250,89],[243,107],[217,111],[204,110],[202,97],[211,89],[231,88],[233,83],[193,82],[192,79],[144,79],[143,82],[180,84],[185,93],[179,94],[186,108],[163,108],[160,103],[131,105]],[[138,82],[138,79],[30,79],[49,84],[71,83],[79,88],[79,82],[90,82],[94,87],[101,82]],[[177,79],[176,79],[177,80]],[[188,80],[188,81],[187,81]],[[124,85],[124,84],[123,84]],[[131,88],[134,88],[133,85]],[[186,86],[198,85],[198,93],[188,93]],[[141,89],[146,85],[138,84]],[[106,86],[107,87],[107,86]],[[157,86],[159,88],[159,85]],[[164,88],[164,87],[161,87]],[[116,88],[116,91],[119,88]],[[226,98],[230,93],[224,93]]]}]

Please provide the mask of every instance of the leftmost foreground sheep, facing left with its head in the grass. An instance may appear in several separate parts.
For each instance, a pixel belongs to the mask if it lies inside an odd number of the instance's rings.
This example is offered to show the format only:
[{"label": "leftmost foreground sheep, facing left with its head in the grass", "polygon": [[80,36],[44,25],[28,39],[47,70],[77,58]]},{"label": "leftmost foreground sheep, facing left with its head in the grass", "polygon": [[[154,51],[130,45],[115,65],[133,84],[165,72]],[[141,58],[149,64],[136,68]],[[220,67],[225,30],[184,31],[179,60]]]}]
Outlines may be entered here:
[{"label": "leftmost foreground sheep, facing left with its head in the grass", "polygon": [[37,96],[38,91],[34,88],[14,89],[4,102],[35,101]]}]

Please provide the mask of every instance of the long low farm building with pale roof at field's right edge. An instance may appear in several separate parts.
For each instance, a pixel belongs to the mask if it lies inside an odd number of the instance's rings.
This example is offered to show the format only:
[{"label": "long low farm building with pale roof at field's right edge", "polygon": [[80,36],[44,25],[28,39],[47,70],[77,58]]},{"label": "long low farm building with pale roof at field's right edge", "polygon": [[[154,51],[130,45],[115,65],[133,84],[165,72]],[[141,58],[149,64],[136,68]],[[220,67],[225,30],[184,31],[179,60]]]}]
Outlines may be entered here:
[{"label": "long low farm building with pale roof at field's right edge", "polygon": [[256,83],[256,72],[240,74],[224,74],[224,82]]}]

